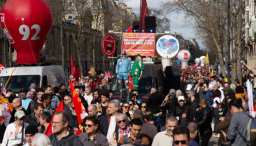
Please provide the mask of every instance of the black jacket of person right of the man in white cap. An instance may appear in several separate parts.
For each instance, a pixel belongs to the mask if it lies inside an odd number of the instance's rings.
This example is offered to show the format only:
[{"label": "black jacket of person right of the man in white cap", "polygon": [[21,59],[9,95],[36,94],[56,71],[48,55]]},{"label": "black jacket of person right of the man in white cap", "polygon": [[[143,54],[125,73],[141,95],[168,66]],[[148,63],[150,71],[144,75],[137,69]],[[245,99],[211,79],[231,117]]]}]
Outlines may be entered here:
[{"label": "black jacket of person right of the man in white cap", "polygon": [[211,132],[211,120],[212,113],[211,109],[208,106],[203,107],[197,112],[197,118],[195,122],[197,123],[200,133],[206,134],[208,132]]}]

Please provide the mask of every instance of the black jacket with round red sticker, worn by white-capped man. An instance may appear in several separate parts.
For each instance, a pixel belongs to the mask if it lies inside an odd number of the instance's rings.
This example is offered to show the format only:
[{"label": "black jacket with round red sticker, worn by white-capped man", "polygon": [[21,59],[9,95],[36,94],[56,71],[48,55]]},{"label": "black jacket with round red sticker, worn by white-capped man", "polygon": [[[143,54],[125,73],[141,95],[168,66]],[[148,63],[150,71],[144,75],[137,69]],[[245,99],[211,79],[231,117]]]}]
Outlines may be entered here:
[{"label": "black jacket with round red sticker, worn by white-capped man", "polygon": [[187,126],[189,122],[193,121],[192,110],[188,105],[176,107],[176,117],[179,117],[178,123]]}]

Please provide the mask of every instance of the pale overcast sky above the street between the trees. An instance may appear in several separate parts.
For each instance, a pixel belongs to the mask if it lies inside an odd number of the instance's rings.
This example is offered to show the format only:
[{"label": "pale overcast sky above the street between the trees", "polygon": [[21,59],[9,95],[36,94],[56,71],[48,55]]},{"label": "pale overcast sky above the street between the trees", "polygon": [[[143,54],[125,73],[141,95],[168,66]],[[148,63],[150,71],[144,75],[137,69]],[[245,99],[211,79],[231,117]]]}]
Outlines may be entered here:
[{"label": "pale overcast sky above the street between the trees", "polygon": [[[122,0],[128,7],[132,7],[132,11],[139,14],[140,12],[140,0]],[[147,0],[148,8],[159,8],[162,6],[163,1],[168,0]],[[184,22],[184,15],[172,13],[170,15],[170,32],[171,34],[181,33],[185,39],[196,38],[200,49],[205,48],[203,40],[198,38],[195,33],[195,29],[192,23]]]}]

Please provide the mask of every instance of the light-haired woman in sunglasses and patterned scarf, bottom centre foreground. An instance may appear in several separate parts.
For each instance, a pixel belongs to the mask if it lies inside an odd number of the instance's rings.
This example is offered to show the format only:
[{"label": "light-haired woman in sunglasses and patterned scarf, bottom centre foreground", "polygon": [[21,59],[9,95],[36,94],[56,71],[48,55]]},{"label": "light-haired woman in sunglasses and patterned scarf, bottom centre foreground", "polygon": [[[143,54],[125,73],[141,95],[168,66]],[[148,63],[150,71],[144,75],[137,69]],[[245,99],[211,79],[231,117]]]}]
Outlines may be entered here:
[{"label": "light-haired woman in sunglasses and patterned scarf, bottom centre foreground", "polygon": [[121,137],[129,134],[129,121],[124,114],[118,113],[116,115],[116,123],[118,128],[114,132],[114,139],[111,140],[110,145],[117,145],[117,142]]}]

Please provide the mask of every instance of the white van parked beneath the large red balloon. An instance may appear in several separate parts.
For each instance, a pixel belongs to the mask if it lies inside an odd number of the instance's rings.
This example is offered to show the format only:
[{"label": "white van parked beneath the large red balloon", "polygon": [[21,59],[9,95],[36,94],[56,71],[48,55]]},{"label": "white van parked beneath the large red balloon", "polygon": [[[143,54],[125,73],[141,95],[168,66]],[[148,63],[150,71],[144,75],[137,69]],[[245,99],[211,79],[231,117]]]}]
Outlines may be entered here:
[{"label": "white van parked beneath the large red balloon", "polygon": [[[5,83],[12,74],[15,67],[6,68],[0,73],[0,86],[4,88]],[[8,82],[6,89],[18,93],[21,88],[29,88],[35,83],[37,88],[52,88],[65,83],[65,74],[62,66],[22,66],[15,69]]]}]

